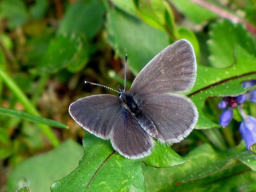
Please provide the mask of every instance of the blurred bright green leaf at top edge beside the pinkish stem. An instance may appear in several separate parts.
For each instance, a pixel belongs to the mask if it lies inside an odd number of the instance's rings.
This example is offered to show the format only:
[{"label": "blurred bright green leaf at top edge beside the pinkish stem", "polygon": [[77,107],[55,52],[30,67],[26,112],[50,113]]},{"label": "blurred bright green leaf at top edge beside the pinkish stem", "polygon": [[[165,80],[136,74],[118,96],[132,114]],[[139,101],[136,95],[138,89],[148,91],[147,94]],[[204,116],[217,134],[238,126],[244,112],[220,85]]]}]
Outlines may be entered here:
[{"label": "blurred bright green leaf at top edge beside the pinkish stem", "polygon": [[209,11],[190,0],[171,0],[175,7],[188,17],[192,22],[201,24],[205,20],[210,20],[218,17],[217,14]]}]

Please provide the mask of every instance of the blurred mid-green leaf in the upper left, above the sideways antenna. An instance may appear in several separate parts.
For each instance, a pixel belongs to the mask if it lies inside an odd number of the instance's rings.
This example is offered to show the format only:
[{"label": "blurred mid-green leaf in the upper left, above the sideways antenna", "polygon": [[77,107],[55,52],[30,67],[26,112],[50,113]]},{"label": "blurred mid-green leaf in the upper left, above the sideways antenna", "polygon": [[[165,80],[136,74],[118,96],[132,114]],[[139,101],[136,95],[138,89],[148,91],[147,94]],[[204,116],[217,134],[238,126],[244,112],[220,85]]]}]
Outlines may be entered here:
[{"label": "blurred mid-green leaf in the upper left, above the sideways antenna", "polygon": [[[81,37],[58,36],[52,42],[38,64],[38,73],[56,73],[66,66],[81,69],[88,60],[85,41]],[[81,62],[81,63],[78,63]],[[79,64],[79,65],[78,65]]]}]

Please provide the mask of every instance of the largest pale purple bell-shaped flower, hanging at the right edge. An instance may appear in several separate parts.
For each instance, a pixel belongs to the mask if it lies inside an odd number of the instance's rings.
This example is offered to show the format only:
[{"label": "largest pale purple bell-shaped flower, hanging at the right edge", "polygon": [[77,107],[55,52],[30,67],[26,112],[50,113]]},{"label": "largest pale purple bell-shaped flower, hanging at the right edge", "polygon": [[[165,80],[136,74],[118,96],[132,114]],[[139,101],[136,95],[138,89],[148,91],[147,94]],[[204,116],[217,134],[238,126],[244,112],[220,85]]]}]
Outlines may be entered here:
[{"label": "largest pale purple bell-shaped flower, hanging at the right edge", "polygon": [[239,131],[249,150],[250,145],[256,143],[256,119],[253,116],[244,118],[239,126]]}]

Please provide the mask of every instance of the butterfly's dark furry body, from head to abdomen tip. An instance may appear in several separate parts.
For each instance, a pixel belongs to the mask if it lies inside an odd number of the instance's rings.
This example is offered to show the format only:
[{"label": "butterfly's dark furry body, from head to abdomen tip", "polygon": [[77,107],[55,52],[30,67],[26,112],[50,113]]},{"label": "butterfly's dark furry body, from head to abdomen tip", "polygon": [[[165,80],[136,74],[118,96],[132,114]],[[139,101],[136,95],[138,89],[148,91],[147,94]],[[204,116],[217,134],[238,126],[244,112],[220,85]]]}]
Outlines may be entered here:
[{"label": "butterfly's dark furry body, from head to abdomen tip", "polygon": [[133,95],[128,91],[119,90],[119,98],[124,107],[129,110],[136,118],[141,128],[147,132],[151,137],[158,139],[158,131],[156,125],[146,113],[138,106],[138,102]]}]

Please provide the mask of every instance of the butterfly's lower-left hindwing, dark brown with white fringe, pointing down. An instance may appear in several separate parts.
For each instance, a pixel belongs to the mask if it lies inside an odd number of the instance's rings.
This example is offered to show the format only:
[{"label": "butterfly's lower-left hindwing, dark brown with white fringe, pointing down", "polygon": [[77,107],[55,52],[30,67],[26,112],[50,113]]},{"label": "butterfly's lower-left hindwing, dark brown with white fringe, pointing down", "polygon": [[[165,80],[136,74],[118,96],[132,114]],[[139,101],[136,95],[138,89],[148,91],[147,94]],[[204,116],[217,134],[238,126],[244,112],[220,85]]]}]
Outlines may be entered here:
[{"label": "butterfly's lower-left hindwing, dark brown with white fringe, pointing down", "polygon": [[129,159],[149,155],[154,142],[126,109],[121,110],[115,117],[110,141],[114,150]]}]

